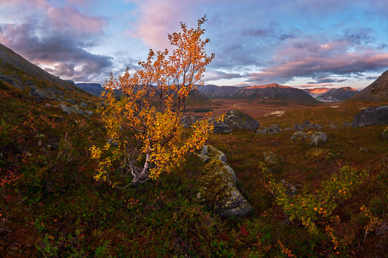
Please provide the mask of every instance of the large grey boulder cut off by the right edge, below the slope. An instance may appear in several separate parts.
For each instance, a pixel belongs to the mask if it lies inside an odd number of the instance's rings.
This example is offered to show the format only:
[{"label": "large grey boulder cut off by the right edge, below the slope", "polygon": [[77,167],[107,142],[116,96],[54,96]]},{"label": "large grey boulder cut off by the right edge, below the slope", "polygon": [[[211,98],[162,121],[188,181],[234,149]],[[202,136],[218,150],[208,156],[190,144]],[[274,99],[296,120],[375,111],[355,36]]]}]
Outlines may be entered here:
[{"label": "large grey boulder cut off by the right edge, below the slope", "polygon": [[352,127],[388,124],[388,106],[364,108],[353,118]]}]

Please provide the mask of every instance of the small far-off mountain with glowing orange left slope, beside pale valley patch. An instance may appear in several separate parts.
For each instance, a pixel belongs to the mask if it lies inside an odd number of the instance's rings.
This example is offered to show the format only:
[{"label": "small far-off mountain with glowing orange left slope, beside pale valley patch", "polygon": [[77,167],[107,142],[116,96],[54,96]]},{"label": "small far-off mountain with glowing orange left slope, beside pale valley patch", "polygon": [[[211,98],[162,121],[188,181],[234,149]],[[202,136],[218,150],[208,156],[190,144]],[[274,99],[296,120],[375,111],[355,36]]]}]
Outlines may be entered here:
[{"label": "small far-off mountain with glowing orange left slope, beside pale valley patch", "polygon": [[342,87],[339,89],[329,88],[314,88],[304,89],[303,91],[308,92],[312,97],[318,98],[322,101],[343,101],[357,94],[356,89],[351,87]]}]

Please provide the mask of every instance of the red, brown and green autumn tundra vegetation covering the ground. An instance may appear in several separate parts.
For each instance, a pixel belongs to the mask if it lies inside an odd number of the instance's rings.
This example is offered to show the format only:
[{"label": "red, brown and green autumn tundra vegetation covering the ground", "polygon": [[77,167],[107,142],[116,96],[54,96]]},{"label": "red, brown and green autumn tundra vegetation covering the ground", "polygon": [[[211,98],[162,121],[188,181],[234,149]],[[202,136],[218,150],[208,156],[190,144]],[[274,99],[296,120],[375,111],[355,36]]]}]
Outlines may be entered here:
[{"label": "red, brown and green autumn tundra vegetation covering the ground", "polygon": [[[56,87],[12,67],[0,72],[33,80],[36,87]],[[57,89],[94,108],[100,103],[82,90]],[[388,252],[386,125],[329,126],[351,123],[360,108],[384,101],[342,102],[256,118],[268,127],[288,128],[307,119],[324,126],[319,131],[327,133],[327,142],[317,147],[333,154],[324,159],[309,159],[311,146],[290,143],[293,130],[209,135],[204,144],[225,153],[240,191],[254,207],[249,217],[223,219],[197,200],[206,164],[192,152],[182,153],[184,165],[170,166],[169,173],[154,170],[153,176],[159,173],[155,180],[111,187],[132,181],[120,181],[119,174],[113,184],[96,181],[100,164],[89,149],[105,149],[103,158],[125,156],[119,152],[118,146],[124,146],[120,137],[116,149],[106,143],[107,135],[127,128],[107,126],[98,115],[87,118],[45,107],[57,103],[34,101],[28,92],[0,80],[2,257],[385,257]],[[177,130],[180,144],[196,129]],[[138,146],[138,138],[132,139]],[[139,146],[144,167],[147,145]],[[279,173],[267,173],[264,152],[284,157]],[[123,167],[120,162],[112,166]],[[282,180],[301,186],[292,194]]]}]

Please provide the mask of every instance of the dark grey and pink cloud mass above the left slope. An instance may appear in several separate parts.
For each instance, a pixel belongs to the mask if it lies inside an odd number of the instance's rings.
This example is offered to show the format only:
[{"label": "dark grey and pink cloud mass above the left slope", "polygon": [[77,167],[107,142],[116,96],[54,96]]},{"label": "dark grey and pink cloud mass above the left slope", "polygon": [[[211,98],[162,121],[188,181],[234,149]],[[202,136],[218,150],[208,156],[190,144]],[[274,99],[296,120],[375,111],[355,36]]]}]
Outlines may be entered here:
[{"label": "dark grey and pink cloud mass above the left slope", "polygon": [[[21,4],[23,1],[18,1]],[[113,57],[91,53],[104,38],[107,20],[70,7],[37,1],[44,15],[27,16],[23,23],[0,24],[0,43],[50,73],[78,81],[96,80],[113,67]],[[12,2],[12,4],[15,4]]]}]

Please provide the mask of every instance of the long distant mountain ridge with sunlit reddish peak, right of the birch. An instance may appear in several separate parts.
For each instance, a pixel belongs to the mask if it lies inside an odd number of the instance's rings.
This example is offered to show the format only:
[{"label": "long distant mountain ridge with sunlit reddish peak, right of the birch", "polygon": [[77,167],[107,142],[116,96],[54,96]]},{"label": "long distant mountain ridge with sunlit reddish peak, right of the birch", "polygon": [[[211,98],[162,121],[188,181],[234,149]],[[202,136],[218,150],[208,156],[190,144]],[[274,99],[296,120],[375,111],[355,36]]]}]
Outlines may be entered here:
[{"label": "long distant mountain ridge with sunlit reddish peak, right of the birch", "polygon": [[203,85],[199,86],[198,89],[209,99],[248,99],[249,102],[281,101],[319,104],[319,101],[301,89],[275,83],[251,87]]}]

